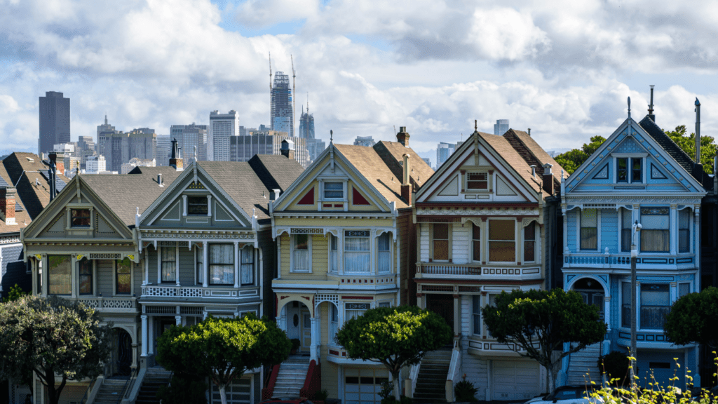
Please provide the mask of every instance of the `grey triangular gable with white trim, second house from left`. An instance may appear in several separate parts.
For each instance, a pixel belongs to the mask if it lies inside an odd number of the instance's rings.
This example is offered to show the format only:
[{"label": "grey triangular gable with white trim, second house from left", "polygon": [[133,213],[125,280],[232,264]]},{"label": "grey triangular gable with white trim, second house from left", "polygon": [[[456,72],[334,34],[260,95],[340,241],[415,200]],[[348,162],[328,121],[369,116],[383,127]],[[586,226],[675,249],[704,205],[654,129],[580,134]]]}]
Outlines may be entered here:
[{"label": "grey triangular gable with white trim, second house from left", "polygon": [[[238,180],[241,180],[238,178]],[[233,201],[222,187],[200,165],[192,163],[190,167],[175,179],[172,184],[165,185],[166,190],[140,216],[140,226],[214,226],[228,225],[251,227],[251,213],[245,212]],[[183,216],[183,193],[192,191],[192,195],[206,196],[211,216]],[[196,191],[196,192],[195,192]],[[188,219],[189,218],[189,219]]]}]

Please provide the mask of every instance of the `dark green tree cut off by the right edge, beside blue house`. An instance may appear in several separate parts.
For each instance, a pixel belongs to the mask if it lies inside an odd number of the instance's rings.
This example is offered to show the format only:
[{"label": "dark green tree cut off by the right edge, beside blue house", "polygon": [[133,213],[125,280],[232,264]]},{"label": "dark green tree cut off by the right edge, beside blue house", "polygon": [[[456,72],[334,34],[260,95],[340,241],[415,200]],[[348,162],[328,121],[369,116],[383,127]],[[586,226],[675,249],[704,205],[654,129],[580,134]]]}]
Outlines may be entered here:
[{"label": "dark green tree cut off by the right edge, beside blue house", "polygon": [[666,316],[666,339],[676,345],[706,344],[718,347],[718,289],[681,296]]}]

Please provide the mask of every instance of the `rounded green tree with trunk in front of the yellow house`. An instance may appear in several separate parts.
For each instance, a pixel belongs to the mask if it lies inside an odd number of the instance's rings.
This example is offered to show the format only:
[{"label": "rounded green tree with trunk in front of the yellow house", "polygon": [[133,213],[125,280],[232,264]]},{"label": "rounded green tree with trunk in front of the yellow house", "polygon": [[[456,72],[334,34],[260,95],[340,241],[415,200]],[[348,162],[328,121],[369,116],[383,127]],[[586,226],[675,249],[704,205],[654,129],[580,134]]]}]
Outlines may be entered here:
[{"label": "rounded green tree with trunk in front of the yellow house", "polygon": [[383,364],[394,380],[394,398],[401,398],[399,371],[418,364],[424,354],[449,344],[452,329],[444,318],[416,306],[380,307],[351,318],[337,331],[347,357]]}]

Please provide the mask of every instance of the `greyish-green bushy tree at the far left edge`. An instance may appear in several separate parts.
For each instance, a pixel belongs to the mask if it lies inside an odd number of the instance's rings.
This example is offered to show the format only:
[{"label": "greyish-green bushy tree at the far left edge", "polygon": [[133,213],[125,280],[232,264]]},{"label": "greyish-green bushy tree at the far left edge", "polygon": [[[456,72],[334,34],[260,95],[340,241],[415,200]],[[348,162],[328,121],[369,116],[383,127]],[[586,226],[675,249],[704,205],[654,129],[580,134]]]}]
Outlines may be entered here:
[{"label": "greyish-green bushy tree at the far left edge", "polygon": [[50,404],[60,400],[67,380],[101,375],[110,357],[111,329],[101,326],[98,313],[55,296],[0,304],[0,329],[0,375],[27,380],[34,372]]}]

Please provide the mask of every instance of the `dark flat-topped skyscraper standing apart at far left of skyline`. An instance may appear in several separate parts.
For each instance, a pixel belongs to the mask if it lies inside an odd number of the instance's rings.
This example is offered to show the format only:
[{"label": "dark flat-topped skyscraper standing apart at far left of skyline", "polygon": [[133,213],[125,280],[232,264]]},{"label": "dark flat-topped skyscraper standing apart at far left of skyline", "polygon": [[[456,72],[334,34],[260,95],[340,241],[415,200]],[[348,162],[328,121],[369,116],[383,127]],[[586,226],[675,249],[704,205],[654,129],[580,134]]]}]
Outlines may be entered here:
[{"label": "dark flat-topped skyscraper standing apart at far left of skyline", "polygon": [[52,146],[70,142],[70,98],[46,91],[39,97],[39,139],[37,154],[52,152]]}]

